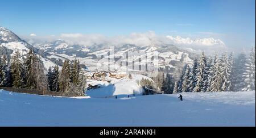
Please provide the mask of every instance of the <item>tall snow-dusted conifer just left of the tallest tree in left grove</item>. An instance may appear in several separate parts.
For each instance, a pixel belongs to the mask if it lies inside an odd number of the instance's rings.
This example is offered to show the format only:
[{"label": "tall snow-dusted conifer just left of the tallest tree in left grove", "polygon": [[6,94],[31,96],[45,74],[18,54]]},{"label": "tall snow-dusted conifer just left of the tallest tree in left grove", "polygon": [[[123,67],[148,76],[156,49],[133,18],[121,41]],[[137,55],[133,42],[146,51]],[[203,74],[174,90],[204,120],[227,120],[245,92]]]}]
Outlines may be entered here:
[{"label": "tall snow-dusted conifer just left of the tallest tree in left grove", "polygon": [[14,55],[11,57],[11,76],[13,78],[13,86],[16,88],[21,88],[23,86],[24,69],[20,58],[19,51],[15,51]]}]

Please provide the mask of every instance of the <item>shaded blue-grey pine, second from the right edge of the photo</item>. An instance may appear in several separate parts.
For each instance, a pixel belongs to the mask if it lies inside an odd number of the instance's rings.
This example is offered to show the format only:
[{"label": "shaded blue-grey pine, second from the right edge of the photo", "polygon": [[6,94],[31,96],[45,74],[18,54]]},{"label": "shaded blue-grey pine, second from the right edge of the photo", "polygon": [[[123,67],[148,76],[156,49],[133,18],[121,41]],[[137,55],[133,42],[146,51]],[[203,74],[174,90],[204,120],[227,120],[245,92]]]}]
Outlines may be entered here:
[{"label": "shaded blue-grey pine, second from the right edge of the photo", "polygon": [[241,91],[246,87],[243,73],[245,72],[246,55],[241,53],[234,61],[234,73],[233,73],[233,91]]}]

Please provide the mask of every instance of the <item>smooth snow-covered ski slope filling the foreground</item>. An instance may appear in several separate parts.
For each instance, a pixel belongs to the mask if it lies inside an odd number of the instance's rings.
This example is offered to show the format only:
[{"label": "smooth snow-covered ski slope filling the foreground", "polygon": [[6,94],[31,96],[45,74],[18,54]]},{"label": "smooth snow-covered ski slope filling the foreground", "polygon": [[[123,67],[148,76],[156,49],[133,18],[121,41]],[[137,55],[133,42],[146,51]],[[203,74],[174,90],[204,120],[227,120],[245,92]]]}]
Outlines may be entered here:
[{"label": "smooth snow-covered ski slope filling the foreground", "polygon": [[0,90],[0,126],[255,126],[255,91],[61,98]]}]

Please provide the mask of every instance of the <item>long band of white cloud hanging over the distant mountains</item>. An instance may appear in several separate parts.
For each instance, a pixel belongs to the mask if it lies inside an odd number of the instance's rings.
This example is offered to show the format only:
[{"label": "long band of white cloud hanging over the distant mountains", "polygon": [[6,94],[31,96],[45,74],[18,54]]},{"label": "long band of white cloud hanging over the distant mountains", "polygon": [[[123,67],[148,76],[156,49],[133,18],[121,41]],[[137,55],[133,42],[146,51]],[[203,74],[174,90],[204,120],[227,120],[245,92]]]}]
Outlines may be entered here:
[{"label": "long band of white cloud hanging over the distant mountains", "polygon": [[[168,45],[174,44],[179,48],[193,49],[191,52],[214,53],[215,51],[225,51],[227,49],[225,43],[220,39],[214,37],[181,37],[181,36],[159,36],[154,31],[148,32],[134,32],[130,35],[119,35],[119,36],[104,36],[100,34],[60,34],[60,36],[46,36],[46,37],[31,37],[29,40],[31,44],[41,40],[42,43],[45,41],[53,41],[62,39],[67,41],[68,44],[79,44],[85,46],[103,45],[108,47],[113,45],[118,47],[123,44],[134,44],[138,47],[148,45]],[[189,50],[189,49],[187,49]]]}]

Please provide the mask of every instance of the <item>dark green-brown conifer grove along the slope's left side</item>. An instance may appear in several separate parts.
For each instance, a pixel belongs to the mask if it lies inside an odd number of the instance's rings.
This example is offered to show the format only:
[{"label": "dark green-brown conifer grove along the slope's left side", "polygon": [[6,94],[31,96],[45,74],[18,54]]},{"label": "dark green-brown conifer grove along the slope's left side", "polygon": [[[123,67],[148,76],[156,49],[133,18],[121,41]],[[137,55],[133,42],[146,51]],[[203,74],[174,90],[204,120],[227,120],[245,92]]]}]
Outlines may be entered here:
[{"label": "dark green-brown conifer grove along the slope's left side", "polygon": [[7,62],[0,56],[0,87],[36,89],[60,92],[63,96],[84,96],[86,78],[78,60],[65,60],[63,67],[49,67],[47,73],[43,61],[32,50],[24,55],[16,51]]}]

